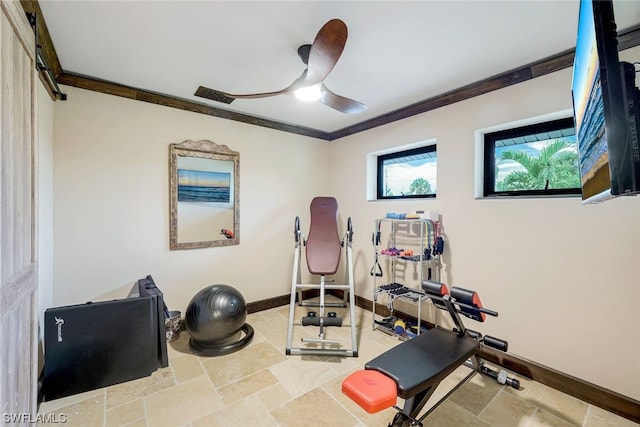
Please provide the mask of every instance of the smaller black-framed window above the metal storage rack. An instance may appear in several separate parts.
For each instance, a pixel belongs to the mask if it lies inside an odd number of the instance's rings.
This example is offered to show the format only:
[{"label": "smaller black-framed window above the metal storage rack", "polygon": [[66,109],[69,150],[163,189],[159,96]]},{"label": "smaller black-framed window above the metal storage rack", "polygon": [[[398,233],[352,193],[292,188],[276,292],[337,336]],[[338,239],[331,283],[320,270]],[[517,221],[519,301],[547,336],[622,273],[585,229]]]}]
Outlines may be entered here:
[{"label": "smaller black-framed window above the metal storage rack", "polygon": [[436,196],[436,146],[378,156],[378,199]]}]

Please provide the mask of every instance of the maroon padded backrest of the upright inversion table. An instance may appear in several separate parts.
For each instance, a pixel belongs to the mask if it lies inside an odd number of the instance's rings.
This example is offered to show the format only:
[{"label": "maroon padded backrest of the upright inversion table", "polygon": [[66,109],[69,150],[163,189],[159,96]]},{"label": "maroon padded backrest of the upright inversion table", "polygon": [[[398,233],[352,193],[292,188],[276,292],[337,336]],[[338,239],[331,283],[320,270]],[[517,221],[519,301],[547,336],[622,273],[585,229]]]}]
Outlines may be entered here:
[{"label": "maroon padded backrest of the upright inversion table", "polygon": [[307,267],[311,274],[334,274],[340,264],[338,202],[333,197],[311,201],[311,227],[306,244]]}]

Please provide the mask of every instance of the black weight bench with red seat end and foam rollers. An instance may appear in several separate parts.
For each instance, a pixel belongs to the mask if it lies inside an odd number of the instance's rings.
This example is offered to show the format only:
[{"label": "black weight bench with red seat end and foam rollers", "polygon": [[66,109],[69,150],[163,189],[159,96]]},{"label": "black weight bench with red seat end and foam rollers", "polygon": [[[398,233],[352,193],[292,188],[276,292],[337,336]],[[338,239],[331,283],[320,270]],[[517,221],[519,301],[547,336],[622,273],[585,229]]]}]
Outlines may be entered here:
[{"label": "black weight bench with red seat end and foam rollers", "polygon": [[[382,353],[368,362],[364,370],[354,372],[342,382],[342,392],[369,413],[390,407],[397,409],[389,427],[422,426],[435,408],[477,373],[520,388],[517,379],[509,378],[504,370],[496,372],[485,366],[479,355],[483,345],[506,352],[508,343],[466,329],[460,317],[462,314],[483,322],[486,315],[498,313],[483,308],[474,291],[452,287],[449,292],[446,285],[430,280],[424,281],[422,288],[435,307],[449,312],[455,325],[453,330],[434,327],[423,332]],[[440,382],[462,365],[471,368],[471,372],[418,418]],[[404,399],[403,408],[396,406],[398,397]]]}]

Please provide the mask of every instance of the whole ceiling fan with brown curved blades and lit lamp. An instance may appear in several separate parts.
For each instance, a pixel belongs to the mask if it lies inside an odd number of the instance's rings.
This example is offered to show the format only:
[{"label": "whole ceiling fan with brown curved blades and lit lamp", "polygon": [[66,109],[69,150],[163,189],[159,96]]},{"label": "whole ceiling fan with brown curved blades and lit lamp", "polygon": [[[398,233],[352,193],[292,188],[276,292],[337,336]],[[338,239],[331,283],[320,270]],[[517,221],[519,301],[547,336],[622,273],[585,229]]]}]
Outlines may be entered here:
[{"label": "whole ceiling fan with brown curved blades and lit lamp", "polygon": [[[213,101],[231,104],[235,99],[266,98],[276,95],[295,94],[301,99],[312,98],[323,104],[346,114],[360,113],[367,106],[353,99],[337,95],[324,84],[333,67],[340,59],[340,55],[347,43],[347,26],[340,19],[332,19],[320,28],[313,44],[305,44],[298,48],[298,56],[307,68],[302,75],[289,86],[275,92],[263,92],[252,94],[230,94],[204,86],[198,87],[195,96],[211,99]],[[313,100],[313,99],[306,99]]]}]

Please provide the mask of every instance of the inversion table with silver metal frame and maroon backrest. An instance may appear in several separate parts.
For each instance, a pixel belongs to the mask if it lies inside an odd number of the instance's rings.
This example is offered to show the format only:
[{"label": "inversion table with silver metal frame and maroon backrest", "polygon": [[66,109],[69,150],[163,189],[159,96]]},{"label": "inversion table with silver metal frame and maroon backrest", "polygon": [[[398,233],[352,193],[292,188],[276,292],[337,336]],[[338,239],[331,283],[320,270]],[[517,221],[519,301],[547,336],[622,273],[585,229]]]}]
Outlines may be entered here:
[{"label": "inversion table with silver metal frame and maroon backrest", "polygon": [[[291,280],[291,300],[289,304],[289,323],[287,330],[287,347],[285,353],[287,355],[328,355],[328,356],[350,356],[357,357],[358,356],[358,343],[356,337],[356,314],[355,314],[355,292],[354,292],[354,280],[353,280],[353,257],[352,257],[352,241],[353,241],[353,227],[351,224],[351,218],[349,217],[347,220],[347,230],[342,238],[342,240],[338,240],[336,238],[335,241],[331,241],[331,239],[326,239],[326,235],[330,235],[331,233],[336,233],[337,223],[336,223],[336,215],[337,215],[337,202],[332,197],[316,197],[311,202],[311,231],[309,235],[321,235],[323,237],[319,238],[319,243],[315,243],[315,249],[313,251],[306,249],[306,258],[307,265],[309,267],[309,272],[312,275],[320,276],[320,283],[301,283],[301,258],[302,258],[302,248],[307,246],[308,241],[305,239],[304,234],[300,230],[300,218],[295,218],[294,223],[294,238],[295,238],[295,247],[294,247],[294,256],[293,256],[293,273]],[[335,209],[335,211],[329,211],[317,214],[325,215],[325,220],[328,218],[328,221],[322,222],[319,220],[317,223],[314,223],[314,206],[328,206],[328,209]],[[333,218],[331,218],[333,216]],[[320,223],[320,226],[314,225]],[[314,230],[315,227],[315,230]],[[333,230],[326,230],[323,227],[333,227]],[[337,233],[336,233],[337,235]],[[311,241],[311,238],[309,239]],[[339,245],[337,247],[337,255],[336,255],[336,247],[335,245]],[[318,262],[318,258],[323,258],[324,252],[327,250],[328,252],[334,252],[333,254],[329,254],[329,258],[337,256],[337,259],[330,259],[328,263],[326,259],[321,259]],[[336,284],[332,280],[327,279],[326,276],[333,275],[337,271],[338,263],[340,255],[339,253],[344,250],[345,259],[346,259],[346,268],[345,268],[345,282],[344,284]],[[320,267],[318,267],[320,265]],[[329,267],[327,267],[329,265]],[[304,301],[302,291],[303,290],[311,290],[317,289],[319,291],[319,302],[315,301]],[[327,290],[342,290],[343,291],[343,300],[339,303],[327,302],[325,300],[325,294]],[[307,307],[318,307],[317,315],[315,312],[308,313],[307,316],[303,317],[300,322],[295,321],[295,305],[296,305],[296,297],[297,304],[299,306],[307,306]],[[342,326],[342,318],[337,317],[335,313],[326,312],[326,307],[349,307],[350,313],[350,329],[351,329],[351,347],[350,348],[340,348],[340,341],[331,340],[325,337],[325,330],[329,326]],[[318,326],[319,334],[318,338],[302,338],[301,342],[315,344],[318,347],[293,347],[293,330],[294,326]]]}]

